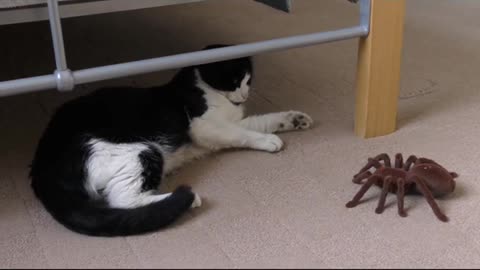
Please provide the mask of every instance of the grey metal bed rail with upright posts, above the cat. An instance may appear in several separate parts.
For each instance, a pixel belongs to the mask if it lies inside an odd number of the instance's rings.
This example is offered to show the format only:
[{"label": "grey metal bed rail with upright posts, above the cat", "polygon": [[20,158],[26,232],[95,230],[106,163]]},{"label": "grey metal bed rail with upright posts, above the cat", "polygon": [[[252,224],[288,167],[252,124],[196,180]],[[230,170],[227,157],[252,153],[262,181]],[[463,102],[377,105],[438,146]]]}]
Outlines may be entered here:
[{"label": "grey metal bed rail with upright posts, above the cat", "polygon": [[370,29],[370,1],[371,0],[360,0],[360,25],[355,27],[277,38],[213,50],[182,53],[71,72],[66,66],[60,16],[58,14],[58,3],[56,0],[49,0],[49,10],[51,9],[50,23],[55,48],[57,71],[53,75],[0,82],[0,97],[16,93],[52,89],[55,88],[55,86],[59,90],[69,90],[72,89],[75,84],[229,60],[265,52],[310,46],[356,37],[365,37],[368,35]]}]

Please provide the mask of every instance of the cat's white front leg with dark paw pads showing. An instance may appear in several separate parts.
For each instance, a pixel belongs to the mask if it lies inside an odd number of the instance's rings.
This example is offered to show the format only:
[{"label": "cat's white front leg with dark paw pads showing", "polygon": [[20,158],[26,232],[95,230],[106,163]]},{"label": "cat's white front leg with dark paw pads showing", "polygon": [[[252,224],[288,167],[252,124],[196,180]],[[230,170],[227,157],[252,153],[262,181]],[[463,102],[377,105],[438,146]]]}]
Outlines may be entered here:
[{"label": "cat's white front leg with dark paw pads showing", "polygon": [[308,129],[313,120],[305,113],[297,111],[268,113],[249,116],[239,122],[240,126],[262,133],[276,133]]}]

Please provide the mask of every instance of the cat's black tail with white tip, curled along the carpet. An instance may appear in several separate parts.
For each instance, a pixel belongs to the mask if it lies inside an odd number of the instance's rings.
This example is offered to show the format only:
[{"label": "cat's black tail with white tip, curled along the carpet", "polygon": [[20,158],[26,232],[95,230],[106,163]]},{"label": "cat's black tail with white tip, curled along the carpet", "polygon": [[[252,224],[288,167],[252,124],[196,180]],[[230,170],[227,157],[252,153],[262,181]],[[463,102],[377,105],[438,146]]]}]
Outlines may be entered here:
[{"label": "cat's black tail with white tip, curled along the carpet", "polygon": [[50,212],[67,228],[81,234],[127,236],[164,228],[199,204],[200,198],[190,187],[180,186],[167,198],[138,208],[108,208],[89,202],[68,212]]}]

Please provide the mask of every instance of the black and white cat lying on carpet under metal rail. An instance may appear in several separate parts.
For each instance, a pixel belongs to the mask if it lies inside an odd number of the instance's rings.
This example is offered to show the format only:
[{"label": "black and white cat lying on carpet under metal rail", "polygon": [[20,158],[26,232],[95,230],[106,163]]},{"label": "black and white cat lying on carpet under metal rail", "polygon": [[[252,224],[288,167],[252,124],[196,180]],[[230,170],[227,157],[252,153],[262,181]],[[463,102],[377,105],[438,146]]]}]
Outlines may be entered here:
[{"label": "black and white cat lying on carpet under metal rail", "polygon": [[296,111],[244,118],[252,76],[250,58],[241,58],[184,68],[164,86],[102,89],[67,102],[32,162],[36,196],[82,234],[133,235],[171,224],[201,205],[190,187],[157,190],[173,169],[226,148],[276,152],[283,142],[273,133],[312,125]]}]

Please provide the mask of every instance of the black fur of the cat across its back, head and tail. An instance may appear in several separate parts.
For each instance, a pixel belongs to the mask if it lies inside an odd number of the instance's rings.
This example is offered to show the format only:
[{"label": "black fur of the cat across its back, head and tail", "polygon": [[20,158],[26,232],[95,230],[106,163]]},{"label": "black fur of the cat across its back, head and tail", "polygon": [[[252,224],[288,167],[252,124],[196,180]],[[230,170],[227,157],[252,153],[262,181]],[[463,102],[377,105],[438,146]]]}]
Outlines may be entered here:
[{"label": "black fur of the cat across its back, head and tail", "polygon": [[[231,91],[234,85],[228,77],[245,74],[251,62],[242,58],[184,68],[164,86],[102,89],[56,111],[39,141],[30,177],[36,196],[57,221],[87,235],[120,236],[158,230],[189,209],[194,200],[189,187],[181,186],[157,203],[119,209],[90,198],[84,182],[85,163],[92,151],[87,142],[92,138],[111,143],[155,142],[171,149],[191,143],[189,121],[208,109],[203,91],[195,86],[195,69],[211,86]],[[142,152],[140,160],[143,190],[156,189],[163,172],[162,154],[152,148]]]}]

